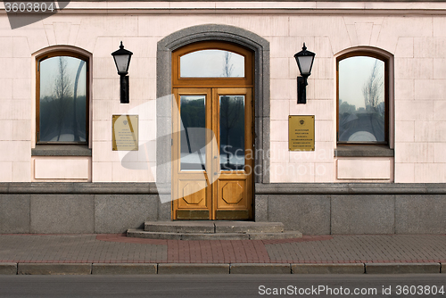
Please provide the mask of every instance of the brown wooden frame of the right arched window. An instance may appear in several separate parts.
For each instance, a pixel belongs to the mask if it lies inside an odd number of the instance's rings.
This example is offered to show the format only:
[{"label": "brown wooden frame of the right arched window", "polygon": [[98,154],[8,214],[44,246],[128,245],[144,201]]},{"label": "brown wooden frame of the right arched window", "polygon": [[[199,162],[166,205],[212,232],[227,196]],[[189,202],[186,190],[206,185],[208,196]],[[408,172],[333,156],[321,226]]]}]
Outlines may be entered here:
[{"label": "brown wooden frame of the right arched window", "polygon": [[[340,142],[339,141],[339,62],[351,57],[366,56],[376,58],[384,62],[384,142]],[[336,57],[336,145],[383,145],[390,146],[390,82],[389,82],[390,58],[375,52],[366,50],[353,51]]]}]

